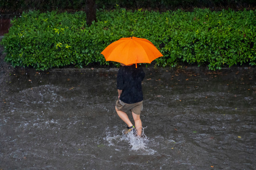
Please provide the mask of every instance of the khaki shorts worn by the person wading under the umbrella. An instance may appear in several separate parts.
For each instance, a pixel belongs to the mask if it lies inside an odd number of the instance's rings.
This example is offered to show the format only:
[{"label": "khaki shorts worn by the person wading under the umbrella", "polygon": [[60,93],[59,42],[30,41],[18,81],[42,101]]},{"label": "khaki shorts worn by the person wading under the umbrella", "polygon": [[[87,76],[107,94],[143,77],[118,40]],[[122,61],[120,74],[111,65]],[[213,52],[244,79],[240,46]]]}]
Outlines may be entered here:
[{"label": "khaki shorts worn by the person wading under the umbrella", "polygon": [[140,115],[140,112],[143,109],[143,104],[142,103],[143,103],[143,101],[128,104],[128,103],[125,103],[125,102],[122,102],[122,101],[118,100],[116,102],[116,108],[117,108],[117,110],[121,110],[121,111],[124,111],[124,112],[128,112],[130,110],[133,113],[135,113],[137,115]]}]

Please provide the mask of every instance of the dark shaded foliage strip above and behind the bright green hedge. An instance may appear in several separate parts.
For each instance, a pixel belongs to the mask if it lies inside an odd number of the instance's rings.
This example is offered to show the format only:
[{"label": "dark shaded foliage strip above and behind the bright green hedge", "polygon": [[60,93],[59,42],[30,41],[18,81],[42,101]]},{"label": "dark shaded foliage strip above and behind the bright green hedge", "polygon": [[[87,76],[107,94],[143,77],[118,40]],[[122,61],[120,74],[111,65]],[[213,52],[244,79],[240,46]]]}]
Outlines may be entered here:
[{"label": "dark shaded foliage strip above and behind the bright green hedge", "polygon": [[[178,8],[250,8],[255,9],[255,0],[96,0],[96,8],[113,9],[116,4],[120,8],[147,8],[160,11]],[[28,10],[41,12],[58,9],[59,11],[85,10],[86,0],[0,0],[0,13],[22,13]]]}]

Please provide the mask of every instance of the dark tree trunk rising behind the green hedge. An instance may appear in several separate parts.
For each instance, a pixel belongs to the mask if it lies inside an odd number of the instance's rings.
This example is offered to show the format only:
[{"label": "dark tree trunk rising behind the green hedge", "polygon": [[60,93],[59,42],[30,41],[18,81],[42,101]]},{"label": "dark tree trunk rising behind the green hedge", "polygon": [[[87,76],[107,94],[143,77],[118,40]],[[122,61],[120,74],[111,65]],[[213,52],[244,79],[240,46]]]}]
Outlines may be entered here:
[{"label": "dark tree trunk rising behind the green hedge", "polygon": [[86,0],[86,24],[91,26],[92,21],[96,21],[96,3],[95,0]]}]

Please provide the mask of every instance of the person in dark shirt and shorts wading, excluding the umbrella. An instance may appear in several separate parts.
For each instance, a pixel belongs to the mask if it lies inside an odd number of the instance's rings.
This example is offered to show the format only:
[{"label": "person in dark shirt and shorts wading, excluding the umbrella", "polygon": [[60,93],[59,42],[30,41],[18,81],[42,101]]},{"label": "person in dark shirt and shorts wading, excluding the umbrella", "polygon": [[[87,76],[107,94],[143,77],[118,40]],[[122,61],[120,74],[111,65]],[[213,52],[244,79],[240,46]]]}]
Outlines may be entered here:
[{"label": "person in dark shirt and shorts wading, excluding the umbrella", "polygon": [[[125,134],[130,131],[137,131],[137,136],[141,136],[142,123],[140,112],[143,109],[143,93],[141,82],[145,77],[143,68],[135,64],[124,65],[122,63],[117,76],[118,98],[116,111],[119,117],[127,124]],[[128,111],[131,111],[135,127],[128,118]],[[135,130],[136,128],[136,130]]]}]

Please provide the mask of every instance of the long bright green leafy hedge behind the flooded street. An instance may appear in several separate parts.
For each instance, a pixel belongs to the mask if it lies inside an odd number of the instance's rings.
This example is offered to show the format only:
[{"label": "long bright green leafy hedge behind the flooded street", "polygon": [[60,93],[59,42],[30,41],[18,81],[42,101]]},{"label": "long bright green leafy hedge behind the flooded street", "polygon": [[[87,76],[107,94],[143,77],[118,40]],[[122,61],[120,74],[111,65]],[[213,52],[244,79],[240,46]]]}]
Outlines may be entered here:
[{"label": "long bright green leafy hedge behind the flooded street", "polygon": [[164,55],[160,67],[177,64],[208,65],[210,69],[256,65],[256,11],[195,9],[164,13],[97,11],[98,22],[86,25],[84,12],[23,13],[12,21],[2,40],[5,61],[14,67],[39,70],[91,63],[109,65],[101,51],[121,37],[136,36],[151,41]]}]

